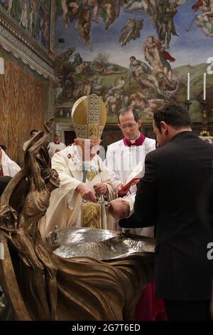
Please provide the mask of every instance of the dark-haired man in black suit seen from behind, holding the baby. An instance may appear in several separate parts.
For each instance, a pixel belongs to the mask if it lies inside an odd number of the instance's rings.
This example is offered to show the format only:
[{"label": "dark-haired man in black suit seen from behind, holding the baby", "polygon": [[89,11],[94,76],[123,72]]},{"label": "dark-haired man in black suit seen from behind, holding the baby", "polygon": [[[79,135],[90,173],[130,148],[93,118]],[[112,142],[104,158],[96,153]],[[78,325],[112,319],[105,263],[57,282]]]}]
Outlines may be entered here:
[{"label": "dark-haired man in black suit seen from behind, holding the baby", "polygon": [[[134,215],[119,224],[155,225],[155,295],[165,299],[168,319],[207,320],[212,281],[207,244],[213,239],[201,224],[197,207],[212,175],[213,145],[192,133],[182,105],[161,105],[153,118],[159,148],[146,155]],[[124,202],[120,213],[115,205],[116,217],[128,212]]]}]

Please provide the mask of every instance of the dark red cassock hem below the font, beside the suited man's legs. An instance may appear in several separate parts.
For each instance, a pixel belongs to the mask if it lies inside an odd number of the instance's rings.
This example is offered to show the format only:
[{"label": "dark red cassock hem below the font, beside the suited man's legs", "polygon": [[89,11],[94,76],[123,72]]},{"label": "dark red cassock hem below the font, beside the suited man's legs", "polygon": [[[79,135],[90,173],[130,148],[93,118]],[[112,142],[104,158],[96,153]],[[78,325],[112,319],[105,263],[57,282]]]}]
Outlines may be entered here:
[{"label": "dark red cassock hem below the font, beside the suited man's legs", "polygon": [[143,289],[136,306],[136,321],[168,321],[163,299],[155,297],[155,285],[151,282]]}]

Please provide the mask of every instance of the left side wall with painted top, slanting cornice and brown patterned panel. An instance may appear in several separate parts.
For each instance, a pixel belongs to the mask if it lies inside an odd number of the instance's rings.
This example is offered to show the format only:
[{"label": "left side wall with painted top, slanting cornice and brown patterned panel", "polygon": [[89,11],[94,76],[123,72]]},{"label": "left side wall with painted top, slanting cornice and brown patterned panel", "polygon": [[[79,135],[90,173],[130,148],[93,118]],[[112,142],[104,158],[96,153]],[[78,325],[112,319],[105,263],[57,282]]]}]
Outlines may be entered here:
[{"label": "left side wall with painted top, slanting cornice and brown patterned panel", "polygon": [[31,129],[54,114],[50,12],[55,0],[0,0],[0,143],[19,165]]}]

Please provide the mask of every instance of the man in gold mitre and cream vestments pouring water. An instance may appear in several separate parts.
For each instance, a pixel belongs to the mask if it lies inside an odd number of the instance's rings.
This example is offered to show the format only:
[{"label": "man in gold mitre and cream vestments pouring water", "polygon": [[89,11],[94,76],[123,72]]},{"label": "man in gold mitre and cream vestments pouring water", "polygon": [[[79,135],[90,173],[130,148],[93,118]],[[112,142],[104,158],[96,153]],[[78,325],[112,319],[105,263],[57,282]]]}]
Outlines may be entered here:
[{"label": "man in gold mitre and cream vestments pouring water", "polygon": [[59,228],[114,229],[104,202],[115,198],[110,176],[97,155],[107,120],[102,98],[82,96],[72,107],[76,138],[72,145],[55,153],[52,168],[58,171],[60,187],[51,193],[45,234]]}]

